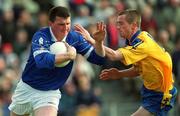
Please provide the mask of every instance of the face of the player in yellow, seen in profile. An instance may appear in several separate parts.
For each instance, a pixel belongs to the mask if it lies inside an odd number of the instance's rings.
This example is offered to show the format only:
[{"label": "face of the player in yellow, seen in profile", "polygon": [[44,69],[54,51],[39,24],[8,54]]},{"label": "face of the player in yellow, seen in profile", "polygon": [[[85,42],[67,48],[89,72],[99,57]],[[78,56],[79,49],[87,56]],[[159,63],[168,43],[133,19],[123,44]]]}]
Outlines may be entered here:
[{"label": "face of the player in yellow, seen in profile", "polygon": [[126,21],[126,16],[125,15],[118,16],[116,23],[117,23],[117,29],[119,31],[120,36],[124,39],[131,38],[132,24],[129,24]]}]

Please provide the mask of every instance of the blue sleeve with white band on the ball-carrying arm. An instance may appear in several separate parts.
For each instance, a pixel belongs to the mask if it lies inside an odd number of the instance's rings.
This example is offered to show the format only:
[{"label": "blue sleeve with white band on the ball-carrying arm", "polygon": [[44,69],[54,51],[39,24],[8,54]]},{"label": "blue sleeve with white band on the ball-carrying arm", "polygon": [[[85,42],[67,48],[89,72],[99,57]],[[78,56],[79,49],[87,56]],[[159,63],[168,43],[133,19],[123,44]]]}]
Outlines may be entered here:
[{"label": "blue sleeve with white band on the ball-carrying arm", "polygon": [[55,64],[55,55],[49,51],[49,41],[42,33],[36,33],[32,39],[32,51],[39,68],[53,68]]}]

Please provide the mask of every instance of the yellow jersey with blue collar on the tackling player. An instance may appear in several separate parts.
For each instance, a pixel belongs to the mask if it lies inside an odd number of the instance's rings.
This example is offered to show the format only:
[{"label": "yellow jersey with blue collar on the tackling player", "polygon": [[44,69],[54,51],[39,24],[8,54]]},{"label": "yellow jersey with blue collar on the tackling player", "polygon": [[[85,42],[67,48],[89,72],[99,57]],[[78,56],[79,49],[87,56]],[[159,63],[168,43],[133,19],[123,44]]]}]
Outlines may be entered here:
[{"label": "yellow jersey with blue collar on the tackling player", "polygon": [[125,65],[133,64],[149,90],[168,92],[173,87],[172,60],[145,31],[138,31],[129,45],[118,49],[124,56]]}]

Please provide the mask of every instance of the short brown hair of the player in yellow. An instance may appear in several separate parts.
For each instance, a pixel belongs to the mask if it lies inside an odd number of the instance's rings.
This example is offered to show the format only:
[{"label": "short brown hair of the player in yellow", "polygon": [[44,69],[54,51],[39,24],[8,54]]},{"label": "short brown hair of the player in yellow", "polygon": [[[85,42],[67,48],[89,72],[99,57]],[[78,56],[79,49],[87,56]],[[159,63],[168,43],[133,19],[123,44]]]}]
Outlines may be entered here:
[{"label": "short brown hair of the player in yellow", "polygon": [[127,9],[127,10],[119,12],[118,16],[120,16],[120,15],[126,15],[126,21],[129,24],[136,22],[138,27],[140,28],[140,26],[141,26],[141,14],[137,10]]}]

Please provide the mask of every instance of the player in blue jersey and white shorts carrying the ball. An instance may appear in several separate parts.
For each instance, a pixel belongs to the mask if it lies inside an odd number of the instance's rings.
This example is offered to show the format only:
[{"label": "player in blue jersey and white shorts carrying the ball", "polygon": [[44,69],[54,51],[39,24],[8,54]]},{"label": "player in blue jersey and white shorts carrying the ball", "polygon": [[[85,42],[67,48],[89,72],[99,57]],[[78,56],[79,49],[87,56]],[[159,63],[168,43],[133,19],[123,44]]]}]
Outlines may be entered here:
[{"label": "player in blue jersey and white shorts carrying the ball", "polygon": [[[99,29],[105,34],[105,28]],[[50,46],[57,41],[66,42],[67,53],[51,54]],[[9,106],[11,116],[57,116],[61,98],[59,88],[68,79],[76,54],[91,63],[101,65],[105,52],[103,43],[89,44],[79,33],[71,30],[70,12],[57,6],[49,11],[49,26],[38,30],[33,38],[29,59],[17,84]],[[55,64],[70,60],[64,67]]]}]

